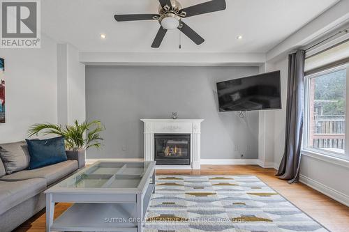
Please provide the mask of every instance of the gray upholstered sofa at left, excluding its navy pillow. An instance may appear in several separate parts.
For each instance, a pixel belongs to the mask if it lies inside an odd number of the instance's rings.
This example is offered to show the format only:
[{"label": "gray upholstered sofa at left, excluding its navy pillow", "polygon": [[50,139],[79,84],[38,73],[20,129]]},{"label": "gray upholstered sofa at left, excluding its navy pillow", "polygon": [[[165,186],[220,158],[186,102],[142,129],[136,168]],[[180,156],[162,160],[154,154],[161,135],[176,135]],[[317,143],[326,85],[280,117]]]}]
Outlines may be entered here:
[{"label": "gray upholstered sofa at left, excluding its navy pillow", "polygon": [[[1,147],[2,144],[0,144]],[[0,231],[13,231],[17,226],[27,221],[37,212],[45,208],[45,194],[43,191],[70,176],[78,169],[79,160],[69,157],[68,160],[58,164],[28,170],[22,167],[22,171],[13,171],[8,160],[15,161],[26,159],[22,152],[26,153],[25,144],[17,142],[6,144],[10,149],[7,160],[0,159]],[[1,147],[2,149],[2,147]],[[4,150],[4,149],[3,149]],[[1,150],[0,150],[1,152]],[[6,151],[7,152],[7,151]],[[19,154],[20,159],[17,157]],[[1,155],[1,154],[0,154]],[[3,162],[7,162],[4,166]],[[13,162],[13,165],[15,162]],[[23,165],[22,165],[23,166]]]}]

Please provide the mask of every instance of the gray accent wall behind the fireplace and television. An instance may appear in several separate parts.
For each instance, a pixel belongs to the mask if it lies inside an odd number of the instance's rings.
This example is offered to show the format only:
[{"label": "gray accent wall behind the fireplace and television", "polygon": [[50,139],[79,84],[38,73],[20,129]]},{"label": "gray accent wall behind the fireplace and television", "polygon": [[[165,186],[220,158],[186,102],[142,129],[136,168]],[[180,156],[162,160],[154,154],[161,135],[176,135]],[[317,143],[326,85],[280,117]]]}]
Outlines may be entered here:
[{"label": "gray accent wall behind the fireplace and television", "polygon": [[258,158],[258,112],[218,112],[216,82],[258,74],[258,67],[87,66],[87,120],[107,130],[87,158],[143,157],[140,118],[203,118],[204,159]]}]

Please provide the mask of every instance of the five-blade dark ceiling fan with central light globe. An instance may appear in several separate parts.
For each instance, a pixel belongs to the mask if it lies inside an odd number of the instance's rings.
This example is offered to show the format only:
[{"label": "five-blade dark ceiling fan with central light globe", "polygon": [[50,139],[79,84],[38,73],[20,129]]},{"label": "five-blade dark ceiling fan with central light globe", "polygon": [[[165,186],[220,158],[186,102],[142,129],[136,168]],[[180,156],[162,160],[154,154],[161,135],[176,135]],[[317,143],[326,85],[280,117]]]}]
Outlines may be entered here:
[{"label": "five-blade dark ceiling fan with central light globe", "polygon": [[211,0],[195,6],[182,8],[177,0],[158,0],[160,6],[157,14],[114,15],[117,22],[137,20],[158,20],[161,25],[151,47],[160,47],[168,30],[179,29],[197,45],[205,40],[182,20],[186,17],[225,10],[225,0]]}]

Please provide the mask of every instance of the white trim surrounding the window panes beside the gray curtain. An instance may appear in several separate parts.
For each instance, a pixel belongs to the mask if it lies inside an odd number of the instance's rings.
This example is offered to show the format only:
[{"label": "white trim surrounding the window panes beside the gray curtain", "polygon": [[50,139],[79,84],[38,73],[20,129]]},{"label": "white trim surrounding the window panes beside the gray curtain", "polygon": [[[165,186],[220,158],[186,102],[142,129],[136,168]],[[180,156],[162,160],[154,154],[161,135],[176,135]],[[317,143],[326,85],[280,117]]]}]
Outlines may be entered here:
[{"label": "white trim surrounding the window panes beside the gray curtain", "polygon": [[[321,150],[316,148],[307,148],[309,143],[309,82],[310,79],[319,77],[321,75],[326,75],[331,72],[338,70],[343,70],[346,68],[346,147],[345,154],[330,152],[327,150]],[[335,162],[344,167],[349,167],[349,64],[339,65],[334,68],[329,68],[327,70],[314,73],[312,75],[304,77],[304,130],[303,130],[303,148],[302,154],[311,157],[317,157],[320,160],[325,160],[327,162]],[[342,165],[343,164],[343,165]]]}]

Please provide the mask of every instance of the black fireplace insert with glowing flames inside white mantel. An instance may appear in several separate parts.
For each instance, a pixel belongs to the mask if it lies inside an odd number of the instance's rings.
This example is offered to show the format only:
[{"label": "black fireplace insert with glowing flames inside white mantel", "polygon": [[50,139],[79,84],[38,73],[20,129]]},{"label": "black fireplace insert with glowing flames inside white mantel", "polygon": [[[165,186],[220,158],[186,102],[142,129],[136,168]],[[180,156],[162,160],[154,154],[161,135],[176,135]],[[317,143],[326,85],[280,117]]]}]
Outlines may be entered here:
[{"label": "black fireplace insert with glowing flames inside white mantel", "polygon": [[156,164],[191,164],[191,134],[154,134],[154,145]]}]

